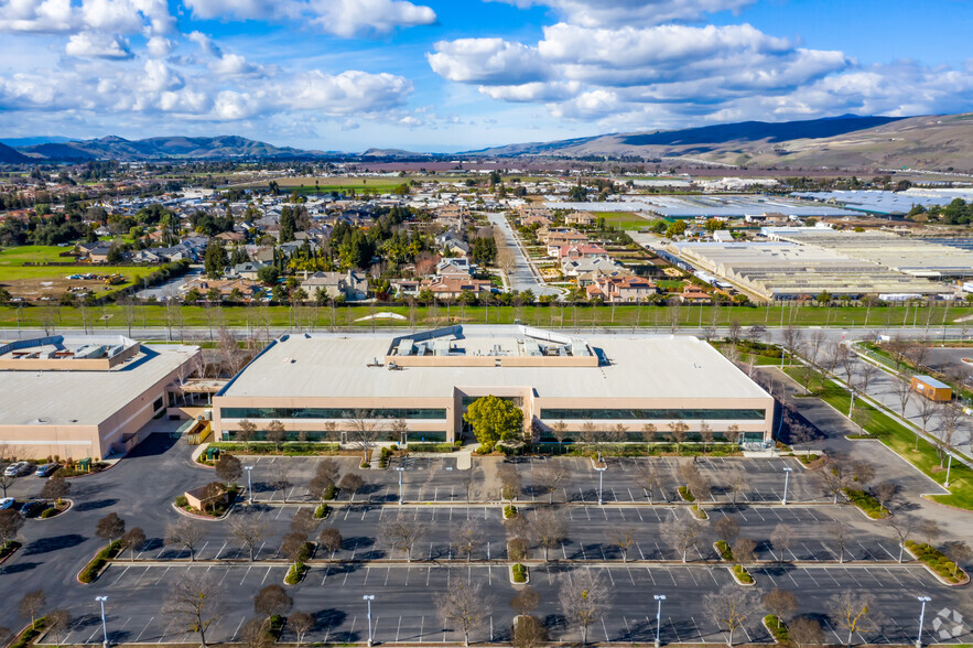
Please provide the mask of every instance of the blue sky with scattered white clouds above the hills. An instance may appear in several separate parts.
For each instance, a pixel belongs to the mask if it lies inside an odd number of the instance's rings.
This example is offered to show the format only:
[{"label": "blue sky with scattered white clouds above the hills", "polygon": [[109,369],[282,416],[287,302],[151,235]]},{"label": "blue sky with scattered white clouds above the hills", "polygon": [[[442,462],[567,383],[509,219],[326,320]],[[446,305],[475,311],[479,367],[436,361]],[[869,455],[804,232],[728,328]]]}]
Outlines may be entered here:
[{"label": "blue sky with scattered white clouds above the hills", "polygon": [[973,110],[971,0],[0,0],[0,138],[455,152]]}]

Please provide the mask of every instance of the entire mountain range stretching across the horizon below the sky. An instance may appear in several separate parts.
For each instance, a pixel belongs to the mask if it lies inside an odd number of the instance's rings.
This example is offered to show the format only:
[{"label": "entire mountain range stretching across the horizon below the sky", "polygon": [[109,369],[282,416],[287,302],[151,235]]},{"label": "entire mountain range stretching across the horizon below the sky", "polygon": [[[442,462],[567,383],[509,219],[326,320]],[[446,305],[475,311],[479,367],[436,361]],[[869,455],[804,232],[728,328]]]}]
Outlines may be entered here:
[{"label": "entire mountain range stretching across the horizon below the sky", "polygon": [[[126,140],[106,137],[73,141],[28,138],[37,143],[0,143],[0,163],[30,161],[160,161],[223,159],[429,160],[435,154],[399,149],[364,153],[305,151],[238,136],[156,137]],[[18,140],[2,140],[14,144]],[[21,139],[19,141],[25,141]],[[923,117],[858,117],[786,122],[744,121],[680,130],[508,144],[442,158],[641,158],[667,163],[749,169],[973,169],[973,114]]]}]

